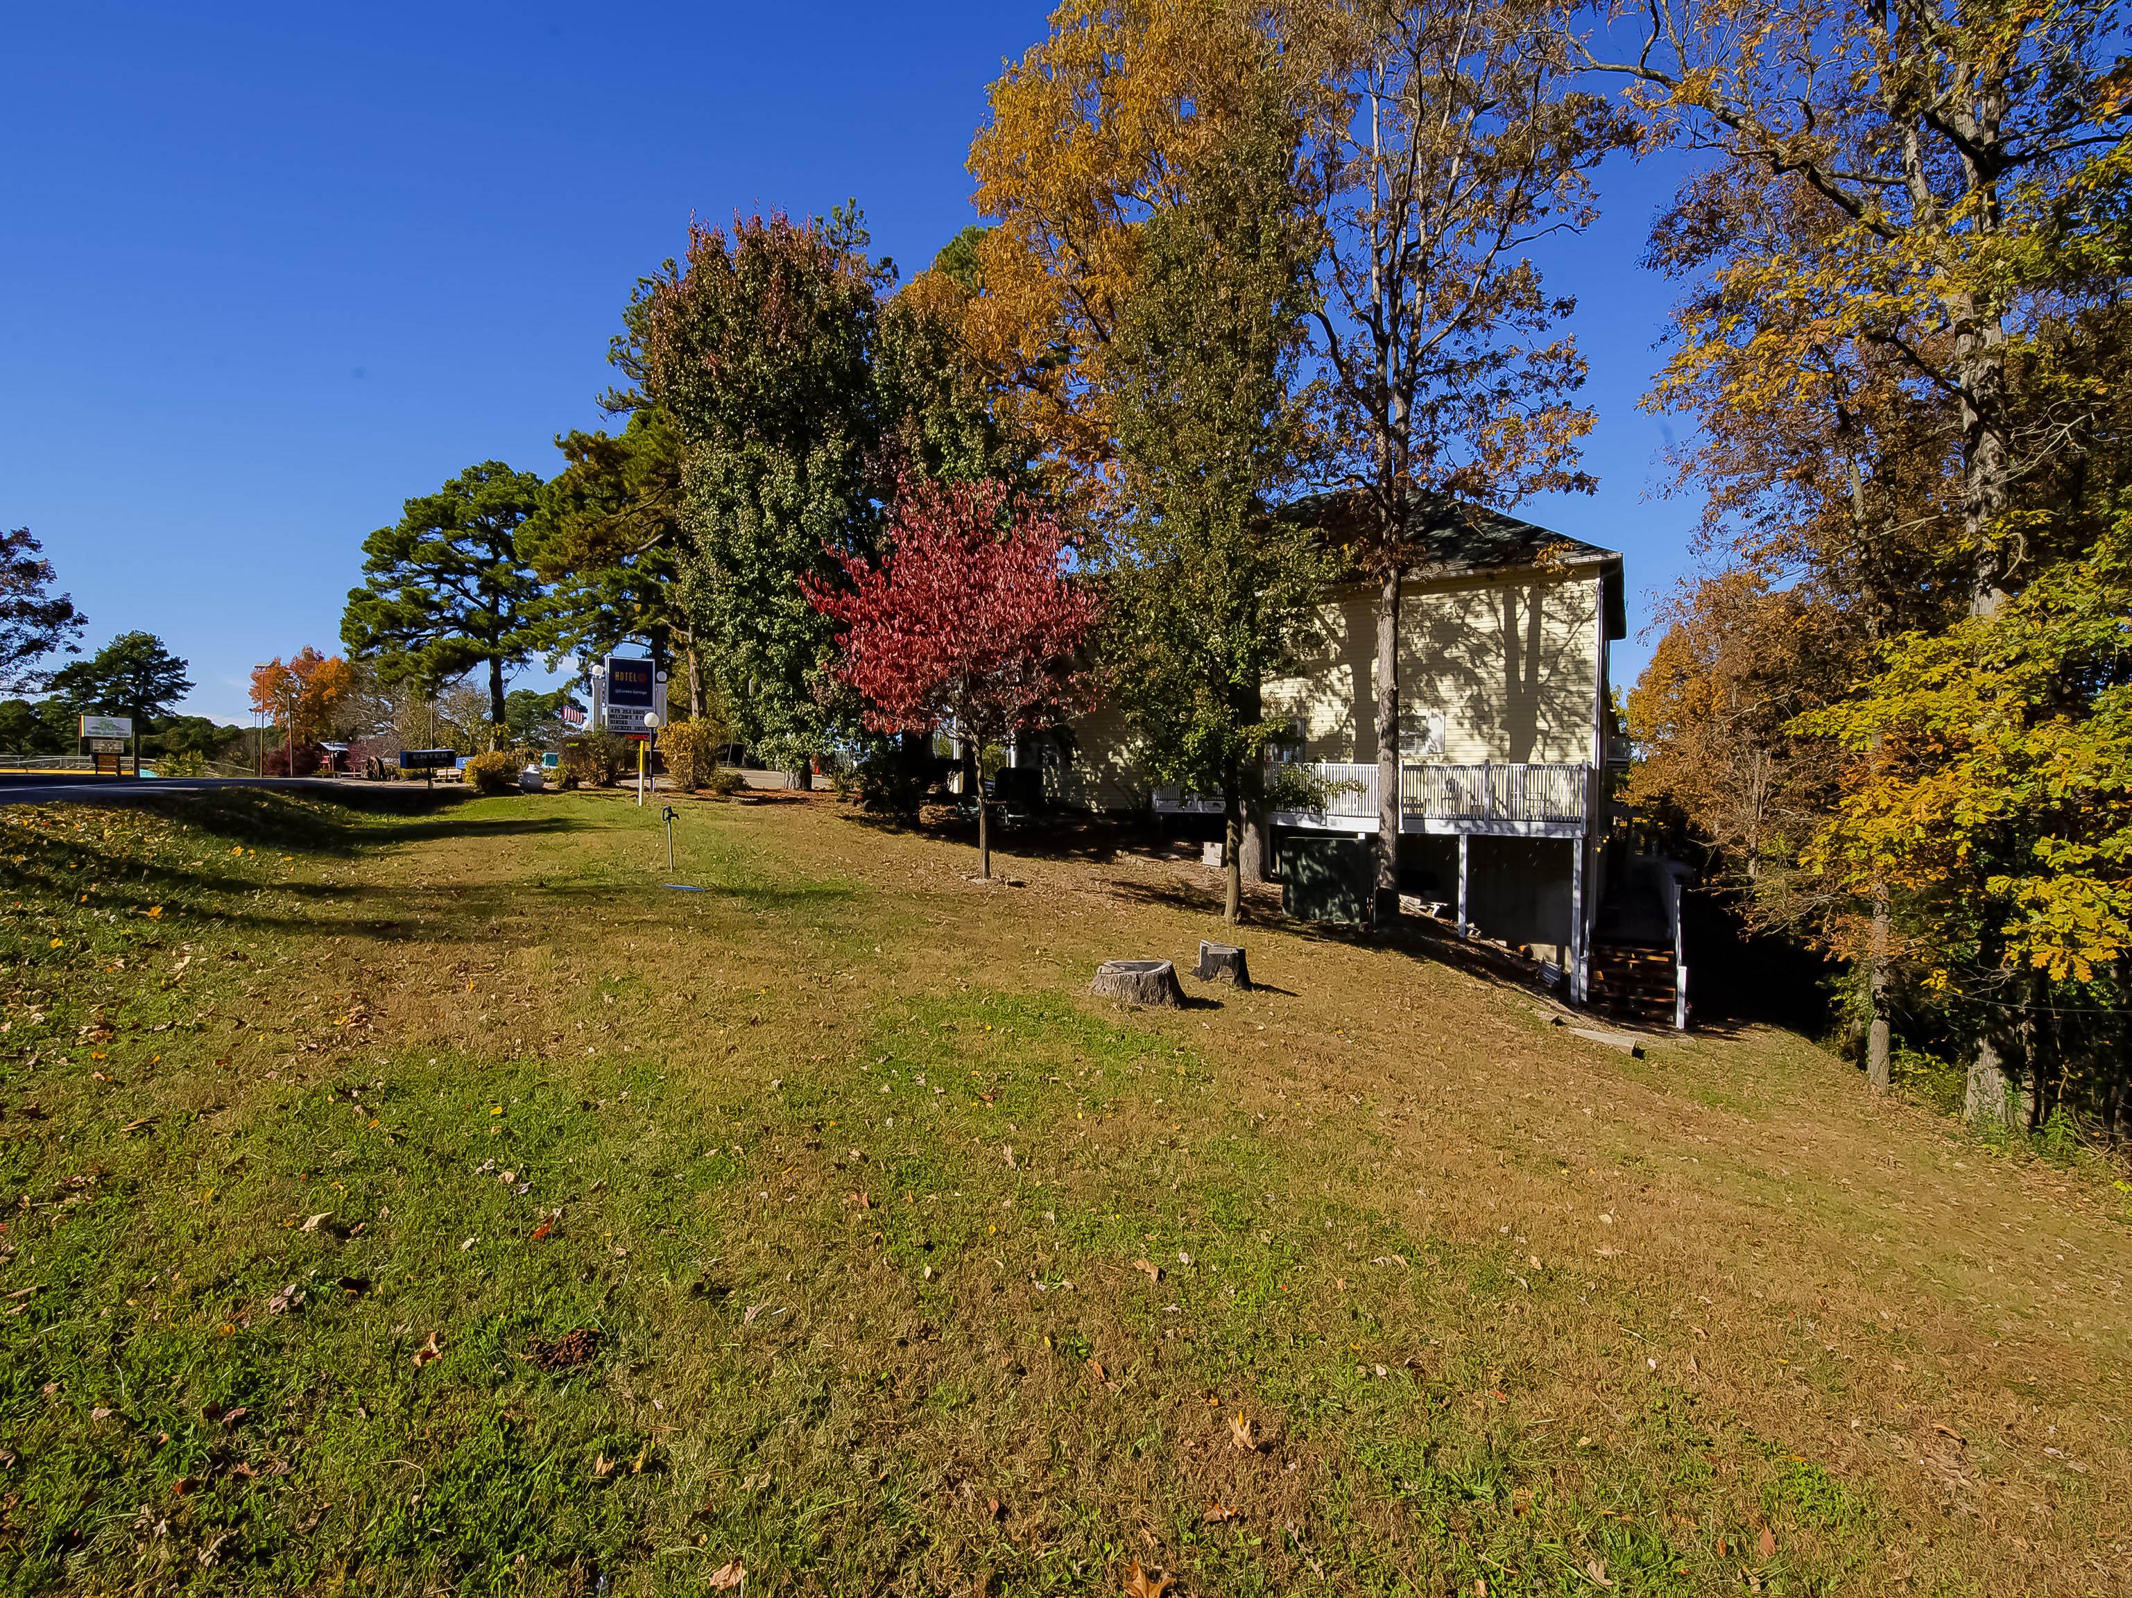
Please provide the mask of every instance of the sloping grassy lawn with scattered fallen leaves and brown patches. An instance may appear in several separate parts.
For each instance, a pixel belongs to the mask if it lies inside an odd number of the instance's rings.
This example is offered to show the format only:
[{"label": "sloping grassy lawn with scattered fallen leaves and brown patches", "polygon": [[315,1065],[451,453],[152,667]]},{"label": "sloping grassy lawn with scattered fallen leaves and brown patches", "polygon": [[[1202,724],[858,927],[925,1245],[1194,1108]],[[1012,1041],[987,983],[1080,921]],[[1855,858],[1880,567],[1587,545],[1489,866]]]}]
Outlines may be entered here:
[{"label": "sloping grassy lawn with scattered fallen leaves and brown patches", "polygon": [[0,1589],[2132,1592],[2109,1172],[680,808],[0,810]]}]

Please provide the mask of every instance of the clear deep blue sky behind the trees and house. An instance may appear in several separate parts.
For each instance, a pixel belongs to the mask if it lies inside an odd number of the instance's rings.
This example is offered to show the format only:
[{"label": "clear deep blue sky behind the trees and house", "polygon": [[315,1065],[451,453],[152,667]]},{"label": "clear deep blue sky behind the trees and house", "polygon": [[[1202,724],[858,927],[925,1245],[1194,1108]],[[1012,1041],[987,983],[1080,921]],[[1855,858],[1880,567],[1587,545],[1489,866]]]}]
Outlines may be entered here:
[{"label": "clear deep blue sky behind the trees and house", "polygon": [[[0,524],[90,641],[160,633],[190,710],[337,648],[362,537],[461,467],[552,473],[599,426],[608,337],[689,217],[857,196],[923,266],[1047,6],[17,6],[0,53]],[[1637,268],[1671,170],[1605,173],[1548,251],[1580,296],[1597,499],[1535,520],[1627,554],[1631,639],[1686,565],[1635,401],[1669,288]]]}]

